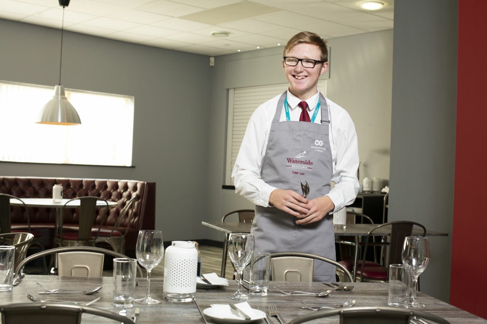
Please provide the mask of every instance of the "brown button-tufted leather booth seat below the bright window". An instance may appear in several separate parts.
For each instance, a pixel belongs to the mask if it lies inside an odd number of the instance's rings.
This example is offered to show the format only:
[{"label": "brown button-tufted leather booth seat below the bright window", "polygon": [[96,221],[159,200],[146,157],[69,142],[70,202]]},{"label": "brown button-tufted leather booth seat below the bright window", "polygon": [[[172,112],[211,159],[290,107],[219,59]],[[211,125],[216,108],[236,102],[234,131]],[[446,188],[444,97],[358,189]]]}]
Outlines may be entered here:
[{"label": "brown button-tufted leather booth seat below the bright window", "polygon": [[[62,185],[63,198],[95,196],[108,201],[117,202],[118,205],[107,213],[103,229],[112,229],[120,210],[133,196],[137,196],[133,218],[130,224],[122,223],[119,230],[122,233],[129,227],[129,233],[125,237],[126,251],[134,251],[137,242],[138,231],[141,229],[154,229],[155,227],[155,182],[136,180],[106,180],[106,179],[77,179],[77,178],[40,178],[40,177],[15,177],[0,176],[0,193],[6,193],[19,198],[52,198],[53,186]],[[12,229],[26,229],[27,221],[23,207],[15,206],[12,209]],[[98,212],[98,211],[97,211]],[[64,230],[77,230],[77,208],[65,208],[63,218]],[[29,207],[31,228],[42,231],[45,236],[49,230],[52,243],[54,225],[56,222],[56,210],[54,208]],[[98,228],[101,215],[97,215],[94,228]]]}]

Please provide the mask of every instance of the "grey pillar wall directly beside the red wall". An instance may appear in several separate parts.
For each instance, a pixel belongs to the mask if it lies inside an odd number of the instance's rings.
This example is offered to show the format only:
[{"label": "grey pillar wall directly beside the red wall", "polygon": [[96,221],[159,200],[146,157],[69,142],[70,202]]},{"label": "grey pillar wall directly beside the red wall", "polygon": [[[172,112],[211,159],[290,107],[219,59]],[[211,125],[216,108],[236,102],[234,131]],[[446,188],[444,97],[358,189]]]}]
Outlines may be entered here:
[{"label": "grey pillar wall directly beside the red wall", "polygon": [[396,0],[389,220],[446,232],[431,238],[421,290],[449,300],[457,0]]}]

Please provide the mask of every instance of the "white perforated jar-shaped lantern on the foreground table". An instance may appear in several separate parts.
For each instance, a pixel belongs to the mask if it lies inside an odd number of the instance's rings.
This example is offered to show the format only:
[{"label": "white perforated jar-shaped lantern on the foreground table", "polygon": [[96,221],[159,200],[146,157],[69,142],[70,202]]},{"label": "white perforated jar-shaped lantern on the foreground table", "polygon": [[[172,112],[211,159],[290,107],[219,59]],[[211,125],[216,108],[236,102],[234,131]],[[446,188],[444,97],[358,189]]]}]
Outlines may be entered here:
[{"label": "white perforated jar-shaped lantern on the foreground table", "polygon": [[164,261],[164,299],[185,303],[194,300],[198,251],[194,242],[172,241]]}]

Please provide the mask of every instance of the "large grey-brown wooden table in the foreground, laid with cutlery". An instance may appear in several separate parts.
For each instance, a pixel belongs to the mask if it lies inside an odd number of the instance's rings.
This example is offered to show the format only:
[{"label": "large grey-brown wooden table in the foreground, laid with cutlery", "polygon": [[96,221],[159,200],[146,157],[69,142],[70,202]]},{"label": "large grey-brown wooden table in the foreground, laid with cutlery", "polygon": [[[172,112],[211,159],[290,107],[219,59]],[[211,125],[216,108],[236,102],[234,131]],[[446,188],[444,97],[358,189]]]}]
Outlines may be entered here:
[{"label": "large grey-brown wooden table in the foreground, laid with cutlery", "polygon": [[[97,286],[103,286],[101,290],[92,294],[39,294],[42,291],[36,283],[39,282],[47,289],[75,289],[89,290]],[[150,279],[150,293],[153,298],[163,300],[163,278]],[[283,282],[271,281],[267,296],[251,295],[247,300],[248,304],[253,307],[276,306],[285,322],[301,315],[309,314],[313,310],[301,308],[303,302],[310,306],[316,305],[334,305],[341,304],[349,300],[355,300],[354,307],[386,307],[388,299],[387,283],[354,283],[354,288],[350,291],[332,290],[326,297],[315,296],[281,296],[283,291],[303,290],[309,292],[320,292],[330,289],[321,282]],[[146,280],[139,278],[138,286],[135,288],[135,298],[142,298],[146,293]],[[244,288],[243,288],[244,289]],[[228,304],[232,301],[227,296],[232,295],[237,290],[237,282],[230,280],[228,286],[218,288],[197,288],[195,296],[198,306],[204,309],[211,307],[212,304]],[[248,293],[244,289],[244,292]],[[58,301],[75,301],[89,302],[95,298],[101,297],[90,307],[101,308],[104,310],[119,313],[120,307],[113,306],[113,278],[112,277],[71,277],[71,276],[53,276],[53,275],[26,275],[19,285],[15,286],[11,292],[0,292],[0,305],[12,303],[29,303],[30,300],[26,294],[32,294],[35,297],[43,299],[53,299]],[[46,298],[48,297],[48,298]],[[487,324],[487,320],[479,318],[467,311],[454,307],[436,298],[433,298],[422,292],[417,293],[417,298],[423,302],[426,307],[419,308],[421,311],[429,312],[445,318],[451,324]],[[156,305],[135,304],[140,307],[140,316],[138,324],[179,324],[179,323],[204,323],[196,305],[189,303],[169,303],[163,301]],[[127,316],[130,316],[134,307],[127,308]],[[274,324],[279,321],[272,317]],[[206,316],[208,323],[217,323],[210,317]],[[237,320],[238,322],[238,320]],[[94,315],[83,314],[81,323],[113,323],[111,320],[105,320]],[[264,324],[264,320],[258,320],[255,324]],[[323,318],[313,323],[339,323],[337,316]]]}]

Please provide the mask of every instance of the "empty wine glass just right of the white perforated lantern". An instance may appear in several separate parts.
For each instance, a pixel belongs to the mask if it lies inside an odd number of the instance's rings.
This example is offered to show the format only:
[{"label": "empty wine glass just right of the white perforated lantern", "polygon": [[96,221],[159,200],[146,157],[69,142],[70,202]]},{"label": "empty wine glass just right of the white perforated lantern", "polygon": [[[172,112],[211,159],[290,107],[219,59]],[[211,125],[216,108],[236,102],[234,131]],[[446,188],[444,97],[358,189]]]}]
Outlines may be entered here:
[{"label": "empty wine glass just right of the white perforated lantern", "polygon": [[230,299],[245,300],[249,298],[249,296],[242,292],[242,273],[244,272],[245,266],[252,259],[254,247],[255,240],[252,234],[232,233],[228,238],[228,254],[237,269],[237,281],[239,282],[237,292],[228,296]]}]

